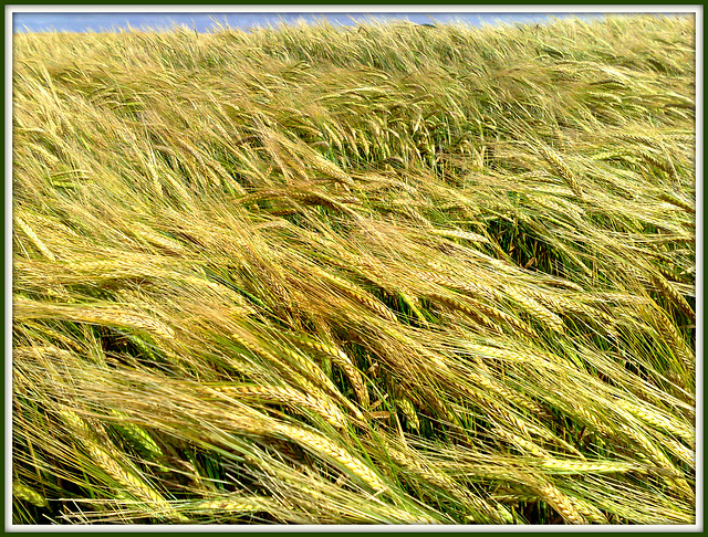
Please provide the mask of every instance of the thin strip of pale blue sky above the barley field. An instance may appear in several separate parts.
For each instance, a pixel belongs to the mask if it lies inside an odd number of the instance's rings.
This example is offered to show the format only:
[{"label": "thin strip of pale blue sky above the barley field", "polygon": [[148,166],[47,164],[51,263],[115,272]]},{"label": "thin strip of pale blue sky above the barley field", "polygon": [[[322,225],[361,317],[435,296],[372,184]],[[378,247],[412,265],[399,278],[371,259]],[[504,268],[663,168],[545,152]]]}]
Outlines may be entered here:
[{"label": "thin strip of pale blue sky above the barley field", "polygon": [[[20,7],[18,7],[21,9]],[[418,23],[431,22],[451,22],[461,20],[469,24],[480,25],[483,23],[492,24],[498,22],[546,22],[553,17],[576,15],[582,18],[603,17],[602,13],[540,13],[540,12],[497,12],[497,13],[469,13],[469,12],[435,12],[429,13],[346,13],[346,12],[310,12],[310,13],[289,13],[289,12],[14,12],[12,13],[12,31],[111,31],[118,29],[169,29],[178,24],[185,24],[195,28],[197,31],[210,31],[216,29],[215,21],[221,24],[228,24],[232,28],[252,28],[258,25],[278,24],[281,21],[292,23],[300,19],[312,22],[317,19],[326,18],[335,24],[354,24],[354,21],[366,20],[368,18],[376,19],[405,19]],[[353,21],[354,19],[354,21]]]}]

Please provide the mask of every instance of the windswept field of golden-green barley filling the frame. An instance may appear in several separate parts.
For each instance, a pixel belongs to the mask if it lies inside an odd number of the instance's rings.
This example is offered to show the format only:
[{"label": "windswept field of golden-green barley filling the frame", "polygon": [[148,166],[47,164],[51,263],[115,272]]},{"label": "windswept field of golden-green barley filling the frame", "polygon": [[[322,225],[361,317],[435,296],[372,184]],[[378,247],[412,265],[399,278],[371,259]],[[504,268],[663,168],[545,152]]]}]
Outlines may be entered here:
[{"label": "windswept field of golden-green barley filling the frame", "polygon": [[12,522],[695,524],[695,36],[14,35]]}]

